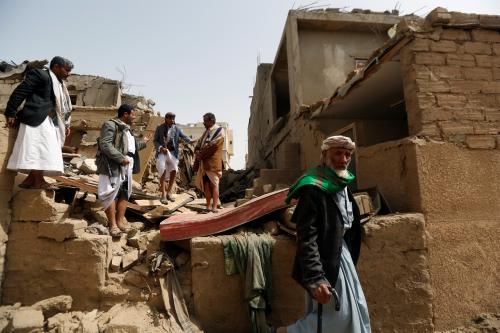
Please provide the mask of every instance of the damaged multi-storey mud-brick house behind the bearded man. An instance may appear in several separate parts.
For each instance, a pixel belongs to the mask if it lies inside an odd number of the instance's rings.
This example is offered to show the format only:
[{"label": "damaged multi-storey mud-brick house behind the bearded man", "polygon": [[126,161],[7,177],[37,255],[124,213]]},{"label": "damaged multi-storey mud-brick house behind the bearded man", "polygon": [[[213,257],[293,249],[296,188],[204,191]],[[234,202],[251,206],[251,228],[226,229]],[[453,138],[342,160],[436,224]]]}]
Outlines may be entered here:
[{"label": "damaged multi-storey mud-brick house behind the bearded man", "polygon": [[291,183],[324,138],[347,135],[355,187],[398,212],[365,225],[358,269],[376,332],[500,310],[499,27],[443,8],[425,20],[291,11],[274,63],[257,69],[248,166]]}]

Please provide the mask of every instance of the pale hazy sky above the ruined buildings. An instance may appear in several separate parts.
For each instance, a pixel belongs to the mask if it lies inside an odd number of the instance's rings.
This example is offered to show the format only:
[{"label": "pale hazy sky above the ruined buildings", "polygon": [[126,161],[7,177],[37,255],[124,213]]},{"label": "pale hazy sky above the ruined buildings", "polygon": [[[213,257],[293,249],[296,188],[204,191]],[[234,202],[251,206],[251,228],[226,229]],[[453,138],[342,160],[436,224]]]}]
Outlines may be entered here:
[{"label": "pale hazy sky above the ruined buildings", "polygon": [[288,11],[310,4],[500,15],[498,0],[0,0],[0,60],[60,55],[74,73],[122,80],[126,93],[151,98],[178,123],[212,112],[233,129],[231,167],[241,169],[257,65],[273,62]]}]

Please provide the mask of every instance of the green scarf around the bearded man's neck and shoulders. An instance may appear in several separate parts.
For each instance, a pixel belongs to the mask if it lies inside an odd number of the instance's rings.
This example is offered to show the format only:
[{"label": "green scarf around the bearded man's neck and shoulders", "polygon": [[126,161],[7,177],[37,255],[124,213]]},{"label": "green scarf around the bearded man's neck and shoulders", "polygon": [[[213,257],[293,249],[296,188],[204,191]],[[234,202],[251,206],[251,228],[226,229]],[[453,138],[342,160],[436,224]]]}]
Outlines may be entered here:
[{"label": "green scarf around the bearded man's neck and shoulders", "polygon": [[285,203],[288,204],[292,199],[297,198],[299,189],[306,185],[313,185],[326,193],[335,194],[343,190],[356,178],[351,172],[347,171],[347,173],[347,178],[343,178],[337,175],[333,169],[323,165],[309,169],[290,187]]}]

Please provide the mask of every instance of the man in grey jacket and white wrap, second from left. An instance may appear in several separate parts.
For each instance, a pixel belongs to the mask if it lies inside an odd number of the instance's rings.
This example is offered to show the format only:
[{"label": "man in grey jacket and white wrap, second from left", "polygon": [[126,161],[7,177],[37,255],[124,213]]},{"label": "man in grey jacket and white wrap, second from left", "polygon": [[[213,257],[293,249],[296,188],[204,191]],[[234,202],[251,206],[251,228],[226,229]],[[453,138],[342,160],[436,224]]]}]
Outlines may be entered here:
[{"label": "man in grey jacket and white wrap, second from left", "polygon": [[132,135],[130,125],[135,119],[134,109],[133,105],[122,104],[118,108],[118,117],[104,122],[97,139],[97,192],[112,237],[120,237],[122,231],[129,231],[123,218],[132,194],[132,173],[140,171],[139,150],[149,141],[147,136],[139,140]]}]

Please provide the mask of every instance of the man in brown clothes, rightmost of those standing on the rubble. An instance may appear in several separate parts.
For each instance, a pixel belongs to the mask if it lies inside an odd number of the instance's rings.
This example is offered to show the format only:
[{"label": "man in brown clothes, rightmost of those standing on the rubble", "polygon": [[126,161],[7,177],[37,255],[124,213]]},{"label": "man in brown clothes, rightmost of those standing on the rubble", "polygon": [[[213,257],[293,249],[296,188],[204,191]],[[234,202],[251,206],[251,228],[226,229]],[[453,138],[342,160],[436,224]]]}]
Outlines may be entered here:
[{"label": "man in brown clothes, rightmost of those standing on the rubble", "polygon": [[[205,132],[195,147],[195,157],[199,162],[196,174],[196,187],[205,193],[206,212],[217,213],[219,203],[219,181],[222,177],[222,147],[224,135],[222,127],[215,124],[215,115],[206,113],[203,116]],[[196,163],[196,162],[195,162]],[[196,167],[195,167],[196,169]],[[210,201],[212,202],[210,208]]]}]

